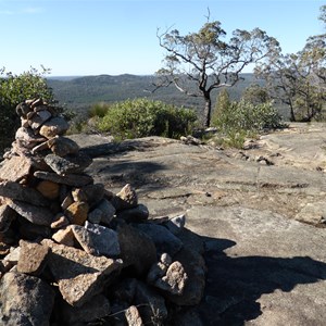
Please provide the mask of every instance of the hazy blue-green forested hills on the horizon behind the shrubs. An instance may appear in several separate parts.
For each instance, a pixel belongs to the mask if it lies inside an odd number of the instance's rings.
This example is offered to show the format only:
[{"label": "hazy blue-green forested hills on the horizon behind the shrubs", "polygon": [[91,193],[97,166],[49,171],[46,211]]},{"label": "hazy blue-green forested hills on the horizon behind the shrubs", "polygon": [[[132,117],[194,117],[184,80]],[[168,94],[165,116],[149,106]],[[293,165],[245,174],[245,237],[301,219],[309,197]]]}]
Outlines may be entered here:
[{"label": "hazy blue-green forested hills on the horizon behind the shrubs", "polygon": [[[243,89],[252,83],[256,83],[253,74],[242,74],[243,80],[228,89],[233,99],[239,99]],[[201,111],[204,106],[202,98],[190,98],[179,92],[174,86],[161,88],[151,93],[146,91],[152,89],[155,80],[154,75],[98,75],[84,77],[50,77],[48,85],[53,89],[55,98],[67,109],[76,110],[84,114],[93,103],[116,102],[126,99],[146,97],[148,99],[161,100],[178,106],[186,106]],[[213,92],[215,102],[217,90]]]}]

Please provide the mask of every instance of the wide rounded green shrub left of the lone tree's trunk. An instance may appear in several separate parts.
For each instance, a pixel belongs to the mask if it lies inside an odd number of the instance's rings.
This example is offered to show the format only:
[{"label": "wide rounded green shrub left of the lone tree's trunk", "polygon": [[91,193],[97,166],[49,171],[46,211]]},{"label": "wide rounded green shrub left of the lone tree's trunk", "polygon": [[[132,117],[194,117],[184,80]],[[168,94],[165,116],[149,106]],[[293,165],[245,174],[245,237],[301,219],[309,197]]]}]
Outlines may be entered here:
[{"label": "wide rounded green shrub left of the lone tree's trunk", "polygon": [[146,136],[177,138],[188,134],[196,121],[196,113],[189,109],[142,98],[111,104],[105,115],[97,120],[97,128],[118,139]]}]

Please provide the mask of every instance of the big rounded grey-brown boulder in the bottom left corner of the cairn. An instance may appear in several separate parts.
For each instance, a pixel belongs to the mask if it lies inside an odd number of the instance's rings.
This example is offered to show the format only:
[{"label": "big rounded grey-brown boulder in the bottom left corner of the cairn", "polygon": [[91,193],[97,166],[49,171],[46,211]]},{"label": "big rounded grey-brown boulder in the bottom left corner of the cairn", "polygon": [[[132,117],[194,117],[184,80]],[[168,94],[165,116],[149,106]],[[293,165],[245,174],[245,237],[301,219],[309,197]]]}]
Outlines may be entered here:
[{"label": "big rounded grey-brown boulder in the bottom left corner of the cairn", "polygon": [[0,321],[8,326],[49,326],[54,291],[41,279],[5,273],[0,280]]}]

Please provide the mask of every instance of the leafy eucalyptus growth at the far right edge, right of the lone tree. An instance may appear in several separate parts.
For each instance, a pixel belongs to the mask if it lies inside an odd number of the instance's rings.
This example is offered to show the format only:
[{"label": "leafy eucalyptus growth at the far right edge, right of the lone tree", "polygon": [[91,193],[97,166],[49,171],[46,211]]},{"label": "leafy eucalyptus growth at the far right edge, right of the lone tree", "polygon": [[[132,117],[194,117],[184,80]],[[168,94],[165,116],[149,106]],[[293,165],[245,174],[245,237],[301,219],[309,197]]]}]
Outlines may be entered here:
[{"label": "leafy eucalyptus growth at the far right edge, right of the lone tree", "polygon": [[[326,5],[321,12],[326,23]],[[310,37],[297,53],[279,51],[268,59],[255,74],[266,82],[269,96],[289,106],[291,121],[319,118],[326,100],[326,34]]]}]

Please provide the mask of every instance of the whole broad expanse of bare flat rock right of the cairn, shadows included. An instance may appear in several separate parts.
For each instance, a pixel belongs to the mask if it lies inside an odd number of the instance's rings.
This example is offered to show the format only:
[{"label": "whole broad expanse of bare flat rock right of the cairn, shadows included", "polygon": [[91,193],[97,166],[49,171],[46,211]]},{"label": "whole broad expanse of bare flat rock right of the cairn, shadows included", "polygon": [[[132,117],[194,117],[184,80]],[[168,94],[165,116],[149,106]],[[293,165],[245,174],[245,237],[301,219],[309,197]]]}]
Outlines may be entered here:
[{"label": "whole broad expanse of bare flat rock right of the cairn, shadows included", "polygon": [[325,324],[324,124],[291,125],[241,153],[160,137],[84,139],[74,137],[97,183],[136,187],[149,218],[186,212],[204,239],[208,286],[192,312],[203,325]]}]

